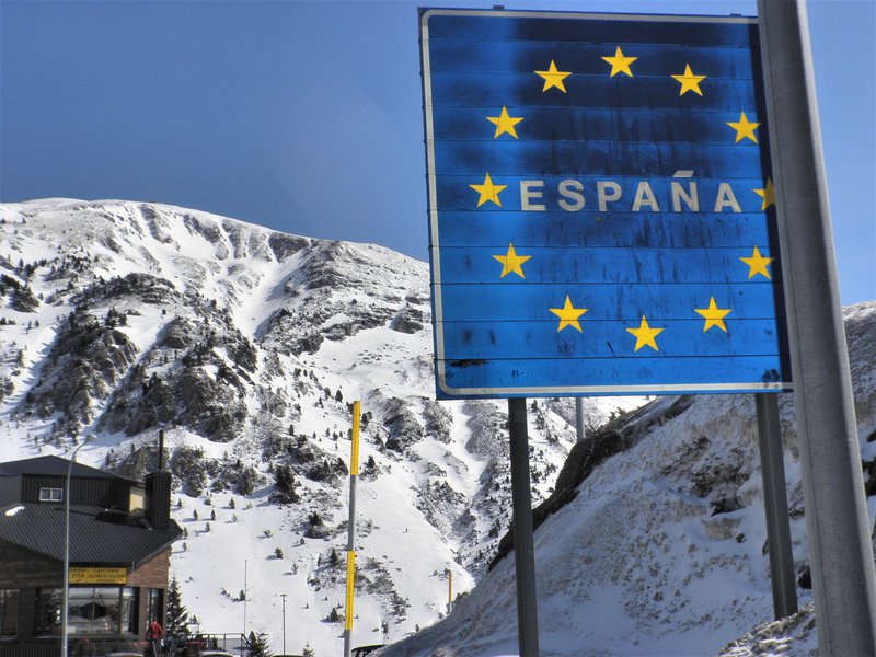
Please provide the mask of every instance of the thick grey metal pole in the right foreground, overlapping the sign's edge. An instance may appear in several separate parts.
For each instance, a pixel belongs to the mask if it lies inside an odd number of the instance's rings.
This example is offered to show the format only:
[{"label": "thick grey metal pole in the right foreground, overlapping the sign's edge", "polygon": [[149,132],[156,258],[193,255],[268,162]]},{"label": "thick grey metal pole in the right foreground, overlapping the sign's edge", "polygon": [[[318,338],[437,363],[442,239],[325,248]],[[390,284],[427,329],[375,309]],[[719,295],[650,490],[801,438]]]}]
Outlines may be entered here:
[{"label": "thick grey metal pole in the right foreground, overlapping the sign's edge", "polygon": [[758,0],[820,655],[876,655],[873,567],[806,5]]}]

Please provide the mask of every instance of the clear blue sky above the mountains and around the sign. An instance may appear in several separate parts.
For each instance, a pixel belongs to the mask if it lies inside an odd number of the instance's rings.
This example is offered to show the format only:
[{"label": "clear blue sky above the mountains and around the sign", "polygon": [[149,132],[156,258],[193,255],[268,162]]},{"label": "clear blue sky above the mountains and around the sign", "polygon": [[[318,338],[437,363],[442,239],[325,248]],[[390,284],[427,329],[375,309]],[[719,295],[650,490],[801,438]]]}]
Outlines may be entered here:
[{"label": "clear blue sky above the mountains and around the sign", "polygon": [[[168,203],[427,260],[417,4],[0,0],[0,200]],[[874,2],[808,11],[842,300],[876,299]]]}]

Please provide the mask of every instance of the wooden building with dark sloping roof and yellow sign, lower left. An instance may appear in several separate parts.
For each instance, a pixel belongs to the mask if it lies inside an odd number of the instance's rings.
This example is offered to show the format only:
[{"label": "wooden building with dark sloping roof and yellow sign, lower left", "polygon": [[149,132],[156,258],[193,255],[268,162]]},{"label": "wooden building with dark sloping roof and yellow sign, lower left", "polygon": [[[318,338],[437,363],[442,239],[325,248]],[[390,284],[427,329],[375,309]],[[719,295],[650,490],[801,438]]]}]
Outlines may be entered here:
[{"label": "wooden building with dark sloping roof and yellow sign, lower left", "polygon": [[[60,650],[65,491],[70,462],[0,463],[0,657]],[[164,625],[171,475],[140,483],[73,463],[70,473],[70,655],[136,649],[149,619]]]}]

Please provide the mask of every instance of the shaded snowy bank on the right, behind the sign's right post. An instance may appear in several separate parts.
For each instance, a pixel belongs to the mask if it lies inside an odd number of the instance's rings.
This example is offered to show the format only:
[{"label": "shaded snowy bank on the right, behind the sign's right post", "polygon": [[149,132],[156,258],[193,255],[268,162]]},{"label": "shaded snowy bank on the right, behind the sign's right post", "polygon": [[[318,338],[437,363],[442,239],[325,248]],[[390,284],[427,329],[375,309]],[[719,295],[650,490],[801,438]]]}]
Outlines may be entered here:
[{"label": "shaded snowy bank on the right, behind the sign's right post", "polygon": [[[846,308],[845,325],[872,522],[876,303]],[[802,575],[808,552],[792,395],[780,408]],[[535,533],[542,655],[814,654],[811,604],[771,622],[754,418],[751,395],[662,397],[620,426],[625,447]],[[798,588],[798,598],[803,607],[811,591]],[[381,656],[517,654],[516,621],[511,555],[447,620]]]}]

